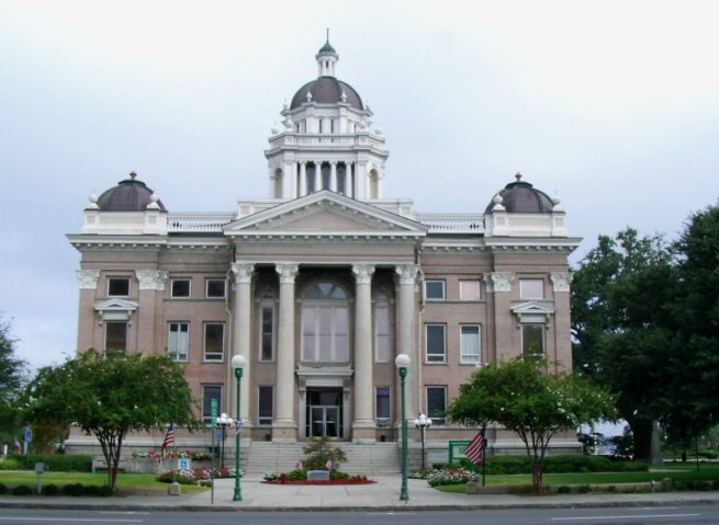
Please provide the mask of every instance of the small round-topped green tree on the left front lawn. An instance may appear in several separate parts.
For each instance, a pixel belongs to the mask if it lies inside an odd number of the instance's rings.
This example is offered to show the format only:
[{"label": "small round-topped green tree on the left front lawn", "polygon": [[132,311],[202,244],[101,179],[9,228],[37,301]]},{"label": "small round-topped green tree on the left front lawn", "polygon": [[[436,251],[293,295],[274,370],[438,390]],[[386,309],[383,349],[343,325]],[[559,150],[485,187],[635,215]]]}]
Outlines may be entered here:
[{"label": "small round-topped green tree on the left front lawn", "polygon": [[123,440],[169,422],[195,427],[190,387],[167,356],[104,358],[94,350],[42,368],[25,390],[24,418],[45,425],[77,424],[100,442],[114,489]]}]

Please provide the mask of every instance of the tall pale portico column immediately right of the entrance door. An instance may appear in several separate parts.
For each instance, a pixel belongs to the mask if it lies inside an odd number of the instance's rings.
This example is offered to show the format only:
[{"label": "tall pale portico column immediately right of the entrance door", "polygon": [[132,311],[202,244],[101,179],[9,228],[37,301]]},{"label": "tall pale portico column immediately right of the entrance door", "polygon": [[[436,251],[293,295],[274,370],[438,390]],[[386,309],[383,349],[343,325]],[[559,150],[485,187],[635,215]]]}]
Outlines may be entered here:
[{"label": "tall pale portico column immediately right of the entrance door", "polygon": [[372,418],[372,274],[371,264],[355,264],[355,421],[352,441],[375,441]]}]

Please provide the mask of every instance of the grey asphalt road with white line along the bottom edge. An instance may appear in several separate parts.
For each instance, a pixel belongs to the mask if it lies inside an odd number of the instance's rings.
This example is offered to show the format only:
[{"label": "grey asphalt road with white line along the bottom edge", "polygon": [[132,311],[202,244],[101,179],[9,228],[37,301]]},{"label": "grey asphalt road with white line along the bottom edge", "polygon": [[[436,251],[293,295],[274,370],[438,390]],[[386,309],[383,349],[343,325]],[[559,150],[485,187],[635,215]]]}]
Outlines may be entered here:
[{"label": "grey asphalt road with white line along the bottom edge", "polygon": [[0,525],[698,525],[719,524],[719,505],[442,512],[0,511]]}]

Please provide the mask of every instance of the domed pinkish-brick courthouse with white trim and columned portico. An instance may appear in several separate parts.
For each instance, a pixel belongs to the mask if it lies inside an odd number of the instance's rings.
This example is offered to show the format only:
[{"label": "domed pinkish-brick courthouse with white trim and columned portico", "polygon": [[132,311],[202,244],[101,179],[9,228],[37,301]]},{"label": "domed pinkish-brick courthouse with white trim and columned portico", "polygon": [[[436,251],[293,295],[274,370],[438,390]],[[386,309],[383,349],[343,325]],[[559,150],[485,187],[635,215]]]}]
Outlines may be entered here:
[{"label": "domed pinkish-brick courthouse with white trim and columned portico", "polygon": [[385,139],[338,58],[327,42],[317,77],[283,107],[256,175],[268,198],[178,213],[151,174],[134,173],[90,197],[68,236],[81,254],[78,351],[166,353],[207,421],[212,399],[235,413],[241,354],[244,440],[358,444],[397,440],[404,353],[409,419],[431,418],[434,443],[467,438],[474,423],[446,409],[475,367],[523,353],[571,367],[568,255],[580,240],[560,199],[520,175],[497,175],[474,214],[385,195]]}]

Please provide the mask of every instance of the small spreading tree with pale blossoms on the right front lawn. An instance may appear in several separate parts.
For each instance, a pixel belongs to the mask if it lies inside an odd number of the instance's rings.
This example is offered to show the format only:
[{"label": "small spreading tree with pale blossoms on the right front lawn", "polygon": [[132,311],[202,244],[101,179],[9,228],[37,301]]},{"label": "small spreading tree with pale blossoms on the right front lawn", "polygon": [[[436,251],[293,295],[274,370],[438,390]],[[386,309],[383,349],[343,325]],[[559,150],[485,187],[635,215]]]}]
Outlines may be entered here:
[{"label": "small spreading tree with pale blossoms on the right front lawn", "polygon": [[539,493],[544,455],[560,431],[599,419],[614,420],[614,399],[604,389],[571,373],[547,373],[547,362],[517,358],[479,368],[449,406],[454,421],[494,421],[521,438]]}]

